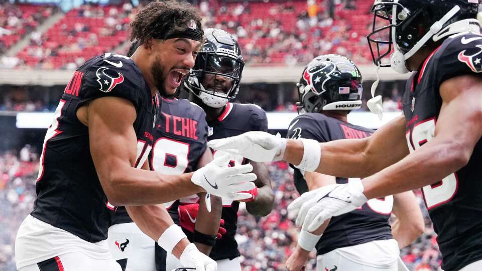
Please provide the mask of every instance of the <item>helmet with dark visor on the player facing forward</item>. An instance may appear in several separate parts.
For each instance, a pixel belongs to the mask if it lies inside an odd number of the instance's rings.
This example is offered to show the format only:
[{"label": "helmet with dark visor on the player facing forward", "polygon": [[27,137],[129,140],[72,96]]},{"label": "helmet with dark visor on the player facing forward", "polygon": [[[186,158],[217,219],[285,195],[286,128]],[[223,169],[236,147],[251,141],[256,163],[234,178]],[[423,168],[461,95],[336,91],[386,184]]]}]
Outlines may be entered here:
[{"label": "helmet with dark visor on the player facing forward", "polygon": [[222,107],[239,91],[245,63],[237,41],[224,30],[204,30],[204,44],[184,86],[210,107]]}]

